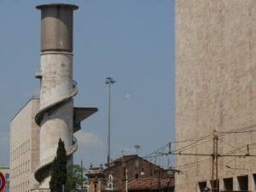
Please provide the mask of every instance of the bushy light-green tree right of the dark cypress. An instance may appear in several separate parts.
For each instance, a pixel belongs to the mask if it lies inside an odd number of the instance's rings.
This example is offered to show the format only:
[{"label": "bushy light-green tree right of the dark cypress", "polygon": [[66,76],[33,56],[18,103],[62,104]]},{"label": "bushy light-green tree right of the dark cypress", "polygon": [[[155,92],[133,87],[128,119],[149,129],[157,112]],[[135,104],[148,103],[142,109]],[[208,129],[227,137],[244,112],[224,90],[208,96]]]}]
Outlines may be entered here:
[{"label": "bushy light-green tree right of the dark cypress", "polygon": [[75,189],[76,184],[82,186],[82,183],[86,181],[86,177],[82,174],[86,169],[79,165],[68,166],[67,168],[67,183],[65,185],[65,192],[71,191],[71,189]]}]

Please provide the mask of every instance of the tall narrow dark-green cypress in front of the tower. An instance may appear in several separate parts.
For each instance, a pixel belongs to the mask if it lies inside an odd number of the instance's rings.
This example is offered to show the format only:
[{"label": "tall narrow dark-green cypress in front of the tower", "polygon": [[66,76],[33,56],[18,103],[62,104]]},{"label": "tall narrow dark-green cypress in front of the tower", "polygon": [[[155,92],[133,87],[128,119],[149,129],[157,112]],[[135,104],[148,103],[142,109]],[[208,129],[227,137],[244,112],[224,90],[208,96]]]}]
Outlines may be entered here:
[{"label": "tall narrow dark-green cypress in front of the tower", "polygon": [[62,185],[67,182],[67,153],[61,138],[58,143],[57,155],[52,163],[49,189],[51,192],[61,192]]}]

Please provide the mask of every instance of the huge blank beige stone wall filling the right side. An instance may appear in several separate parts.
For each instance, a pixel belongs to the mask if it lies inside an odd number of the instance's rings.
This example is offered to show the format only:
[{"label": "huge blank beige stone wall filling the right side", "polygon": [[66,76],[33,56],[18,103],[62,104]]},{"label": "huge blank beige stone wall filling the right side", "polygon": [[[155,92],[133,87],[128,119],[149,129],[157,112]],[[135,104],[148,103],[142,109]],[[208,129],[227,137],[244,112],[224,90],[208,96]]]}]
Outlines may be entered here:
[{"label": "huge blank beige stone wall filling the right side", "polygon": [[[256,130],[256,1],[176,0],[176,140],[211,135],[213,130]],[[218,132],[220,136],[220,133]],[[256,132],[219,137],[219,154],[256,154]],[[195,140],[194,140],[195,142]],[[192,143],[192,142],[190,142]],[[190,143],[177,143],[183,148]],[[212,153],[206,137],[183,153]],[[233,152],[233,153],[232,153]],[[211,157],[176,157],[176,191],[199,191],[211,180]],[[227,168],[230,166],[232,169]],[[224,177],[252,174],[256,158],[219,158],[220,188]],[[236,169],[233,169],[236,168]]]}]

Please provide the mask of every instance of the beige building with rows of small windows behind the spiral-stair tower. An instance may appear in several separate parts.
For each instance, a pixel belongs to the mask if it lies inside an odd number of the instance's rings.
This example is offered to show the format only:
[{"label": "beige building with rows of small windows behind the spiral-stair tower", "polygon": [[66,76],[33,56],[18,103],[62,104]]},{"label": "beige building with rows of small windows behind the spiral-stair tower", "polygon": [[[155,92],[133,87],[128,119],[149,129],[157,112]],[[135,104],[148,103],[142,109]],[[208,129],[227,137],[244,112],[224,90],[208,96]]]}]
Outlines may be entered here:
[{"label": "beige building with rows of small windows behind the spiral-stair tower", "polygon": [[34,178],[39,160],[39,127],[35,113],[39,99],[32,98],[10,122],[10,191],[25,192],[38,185]]}]

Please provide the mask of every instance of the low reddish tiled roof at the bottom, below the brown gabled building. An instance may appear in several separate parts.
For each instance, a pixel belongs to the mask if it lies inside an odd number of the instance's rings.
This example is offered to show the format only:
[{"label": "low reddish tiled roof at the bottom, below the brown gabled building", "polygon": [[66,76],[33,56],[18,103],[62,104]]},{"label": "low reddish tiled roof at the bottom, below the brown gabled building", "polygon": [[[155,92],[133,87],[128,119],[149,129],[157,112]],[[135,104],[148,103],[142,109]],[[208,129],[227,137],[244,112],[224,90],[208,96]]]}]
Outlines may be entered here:
[{"label": "low reddish tiled roof at the bottom, below the brown gabled building", "polygon": [[[150,187],[151,186],[151,187]],[[174,187],[174,178],[161,178],[160,179],[160,188],[165,187]],[[136,179],[128,184],[129,190],[142,190],[142,189],[158,189],[159,180],[158,179]]]}]

